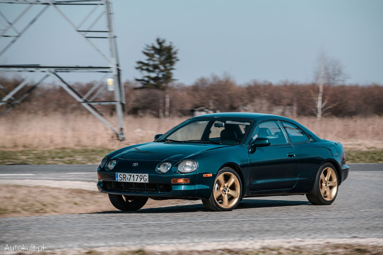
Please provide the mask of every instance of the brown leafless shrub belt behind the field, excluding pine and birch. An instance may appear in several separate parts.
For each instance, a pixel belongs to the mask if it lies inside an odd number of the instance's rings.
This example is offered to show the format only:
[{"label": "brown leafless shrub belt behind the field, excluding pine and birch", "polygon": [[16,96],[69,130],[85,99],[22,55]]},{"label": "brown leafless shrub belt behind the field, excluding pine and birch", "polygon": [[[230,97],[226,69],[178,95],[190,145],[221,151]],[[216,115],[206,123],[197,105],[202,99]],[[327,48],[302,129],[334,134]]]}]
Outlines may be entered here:
[{"label": "brown leafless shrub belt behind the field, excluding pine and birch", "polygon": [[[22,80],[20,78],[0,78],[0,84],[10,91]],[[72,84],[85,94],[90,83]],[[193,110],[207,107],[215,112],[247,111],[272,113],[283,116],[316,116],[316,102],[311,95],[318,90],[316,83],[253,81],[237,84],[232,78],[224,76],[198,78],[193,84],[171,83],[166,90],[155,88],[137,89],[135,81],[124,82],[126,113],[136,116],[165,116],[164,99],[169,95],[169,117],[190,116]],[[28,86],[24,88],[28,89]],[[22,94],[23,91],[18,92]],[[0,91],[0,97],[5,94]],[[331,106],[322,112],[323,116],[371,116],[383,115],[383,86],[381,85],[325,85],[323,101]],[[113,100],[113,93],[105,90],[99,100]],[[4,106],[2,106],[4,107]],[[96,106],[101,111],[113,115],[113,106]],[[3,108],[2,108],[3,109]],[[45,84],[38,87],[9,114],[25,113],[87,113],[87,111],[67,94],[61,87]]]}]

